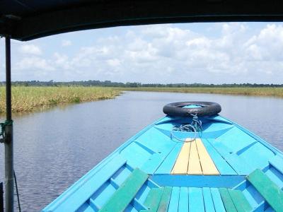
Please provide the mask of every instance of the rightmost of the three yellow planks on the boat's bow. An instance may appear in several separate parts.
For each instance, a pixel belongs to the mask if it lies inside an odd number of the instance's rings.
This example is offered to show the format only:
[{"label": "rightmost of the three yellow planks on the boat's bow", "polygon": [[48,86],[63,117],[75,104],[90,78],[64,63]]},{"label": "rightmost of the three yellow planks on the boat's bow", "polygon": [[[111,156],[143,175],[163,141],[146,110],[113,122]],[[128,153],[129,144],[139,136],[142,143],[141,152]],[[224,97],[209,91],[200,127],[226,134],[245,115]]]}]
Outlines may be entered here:
[{"label": "rightmost of the three yellow planks on the boat's bow", "polygon": [[219,171],[209,153],[207,153],[207,149],[204,147],[201,139],[196,139],[197,151],[199,153],[200,164],[202,165],[202,172],[204,175],[219,175]]}]

